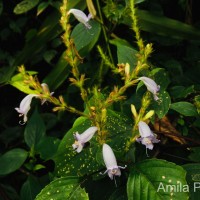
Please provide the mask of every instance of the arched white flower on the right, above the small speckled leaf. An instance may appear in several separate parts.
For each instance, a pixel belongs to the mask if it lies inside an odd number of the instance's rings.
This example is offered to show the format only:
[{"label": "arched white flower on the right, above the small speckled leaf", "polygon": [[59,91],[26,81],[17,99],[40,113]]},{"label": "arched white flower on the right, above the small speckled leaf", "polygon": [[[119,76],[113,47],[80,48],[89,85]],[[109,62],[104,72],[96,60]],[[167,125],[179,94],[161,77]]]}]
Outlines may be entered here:
[{"label": "arched white flower on the right, above the small speckled leaf", "polygon": [[142,76],[140,78],[138,78],[138,80],[143,81],[143,83],[146,85],[147,90],[149,90],[149,92],[151,92],[154,96],[154,100],[158,100],[158,92],[160,90],[160,86],[156,84],[156,82],[148,77]]}]

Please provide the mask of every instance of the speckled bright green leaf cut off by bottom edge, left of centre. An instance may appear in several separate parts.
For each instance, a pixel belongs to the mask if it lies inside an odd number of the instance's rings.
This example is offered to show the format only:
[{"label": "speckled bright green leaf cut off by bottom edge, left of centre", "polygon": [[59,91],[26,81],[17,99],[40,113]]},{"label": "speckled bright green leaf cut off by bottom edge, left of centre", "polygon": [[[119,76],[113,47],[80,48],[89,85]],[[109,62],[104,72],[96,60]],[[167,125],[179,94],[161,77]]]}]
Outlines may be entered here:
[{"label": "speckled bright green leaf cut off by bottom edge, left of centre", "polygon": [[88,200],[89,197],[84,189],[80,187],[75,177],[59,178],[47,185],[35,200]]}]

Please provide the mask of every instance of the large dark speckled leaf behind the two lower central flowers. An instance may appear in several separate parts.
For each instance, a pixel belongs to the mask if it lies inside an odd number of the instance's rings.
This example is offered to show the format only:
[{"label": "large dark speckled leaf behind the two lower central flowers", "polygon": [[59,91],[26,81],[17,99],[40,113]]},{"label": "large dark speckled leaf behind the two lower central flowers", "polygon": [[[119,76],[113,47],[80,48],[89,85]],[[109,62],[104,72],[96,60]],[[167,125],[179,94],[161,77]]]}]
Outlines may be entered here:
[{"label": "large dark speckled leaf behind the two lower central flowers", "polygon": [[[82,152],[77,153],[72,148],[73,134],[75,132],[81,134],[90,126],[92,126],[90,120],[81,118],[80,123],[73,126],[64,136],[54,158],[56,173],[59,176],[84,176],[104,168],[102,166],[102,146],[97,141],[98,133],[90,140],[90,145],[85,145]],[[115,151],[116,157],[124,160],[126,143],[132,130],[131,120],[108,110],[106,130],[108,131],[107,142]]]}]

